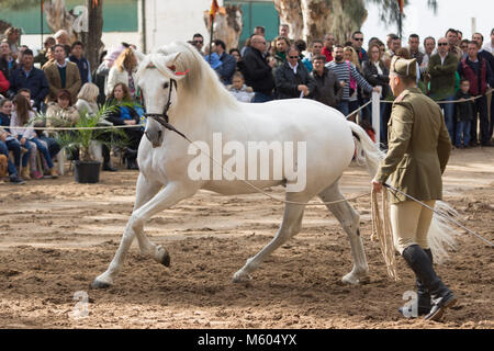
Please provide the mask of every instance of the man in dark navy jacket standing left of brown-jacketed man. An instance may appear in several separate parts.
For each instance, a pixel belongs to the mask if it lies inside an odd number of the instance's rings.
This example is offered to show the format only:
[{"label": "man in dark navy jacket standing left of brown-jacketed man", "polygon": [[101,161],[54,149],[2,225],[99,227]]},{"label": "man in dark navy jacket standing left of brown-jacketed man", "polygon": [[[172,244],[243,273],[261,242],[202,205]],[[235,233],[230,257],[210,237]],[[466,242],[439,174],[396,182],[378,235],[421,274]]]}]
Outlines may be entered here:
[{"label": "man in dark navy jacket standing left of brown-jacketed man", "polygon": [[11,97],[15,95],[21,89],[29,89],[33,107],[37,111],[44,111],[44,101],[49,93],[48,80],[45,72],[34,67],[34,57],[31,49],[24,52],[22,66],[13,70],[10,77]]}]

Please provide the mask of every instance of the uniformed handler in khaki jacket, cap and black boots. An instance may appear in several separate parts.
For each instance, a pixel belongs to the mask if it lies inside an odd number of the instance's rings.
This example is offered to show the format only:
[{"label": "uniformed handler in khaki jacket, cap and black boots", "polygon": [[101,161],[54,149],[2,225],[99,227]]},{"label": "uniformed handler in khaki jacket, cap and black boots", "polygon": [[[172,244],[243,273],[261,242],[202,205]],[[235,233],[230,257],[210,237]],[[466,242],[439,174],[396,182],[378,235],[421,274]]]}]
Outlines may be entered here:
[{"label": "uniformed handler in khaki jacket, cap and black boots", "polygon": [[[415,81],[415,59],[393,57],[390,86],[397,98],[388,124],[388,155],[372,186],[380,192],[382,183],[390,179],[392,186],[434,208],[442,196],[441,174],[451,140],[439,105],[424,95]],[[395,247],[417,278],[418,314],[439,320],[456,298],[433,268],[427,234],[434,213],[402,194],[393,194],[391,203]]]}]

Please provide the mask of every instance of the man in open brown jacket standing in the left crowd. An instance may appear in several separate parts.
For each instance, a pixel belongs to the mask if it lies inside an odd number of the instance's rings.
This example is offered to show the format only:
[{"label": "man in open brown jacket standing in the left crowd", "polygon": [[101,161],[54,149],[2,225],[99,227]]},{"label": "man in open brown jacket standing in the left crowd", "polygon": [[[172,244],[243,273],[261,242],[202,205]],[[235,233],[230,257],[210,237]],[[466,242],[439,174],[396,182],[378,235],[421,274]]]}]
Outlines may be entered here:
[{"label": "man in open brown jacket standing in the left crowd", "polygon": [[72,103],[81,87],[79,68],[76,64],[65,59],[64,46],[57,44],[54,46],[55,61],[44,67],[46,79],[49,84],[49,101],[56,101],[58,92],[67,89],[72,97]]}]

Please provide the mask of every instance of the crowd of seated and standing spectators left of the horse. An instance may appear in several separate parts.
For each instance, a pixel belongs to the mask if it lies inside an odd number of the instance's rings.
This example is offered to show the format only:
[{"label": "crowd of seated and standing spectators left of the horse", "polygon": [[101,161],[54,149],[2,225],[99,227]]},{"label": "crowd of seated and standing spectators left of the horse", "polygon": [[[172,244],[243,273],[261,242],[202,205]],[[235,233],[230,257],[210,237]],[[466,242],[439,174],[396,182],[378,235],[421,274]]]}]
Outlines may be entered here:
[{"label": "crowd of seated and standing spectators left of the horse", "polygon": [[[36,56],[27,46],[19,46],[19,33],[9,29],[0,43],[0,154],[7,156],[10,181],[22,184],[57,178],[54,160],[60,151],[59,134],[37,127],[76,126],[82,115],[96,115],[102,104],[113,106],[102,121],[105,125],[136,126],[124,131],[126,146],[120,151],[127,169],[138,169],[145,112],[131,46],[123,43],[103,53],[100,65],[91,69],[85,45],[70,43],[65,31],[47,37]],[[101,151],[102,169],[117,171],[106,144]],[[79,160],[79,150],[68,157]]]}]

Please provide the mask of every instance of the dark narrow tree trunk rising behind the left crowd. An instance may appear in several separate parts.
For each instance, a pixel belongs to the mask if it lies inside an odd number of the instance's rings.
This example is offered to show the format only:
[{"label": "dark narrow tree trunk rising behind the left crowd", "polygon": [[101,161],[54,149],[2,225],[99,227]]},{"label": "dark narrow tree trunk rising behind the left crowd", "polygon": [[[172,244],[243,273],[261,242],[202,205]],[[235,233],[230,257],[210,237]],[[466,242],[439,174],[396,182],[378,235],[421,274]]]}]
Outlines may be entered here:
[{"label": "dark narrow tree trunk rising behind the left crowd", "polygon": [[104,44],[101,42],[103,34],[103,0],[99,0],[98,4],[93,0],[86,0],[88,8],[88,31],[79,33],[79,39],[85,44],[86,58],[91,69],[98,68],[100,55]]}]

